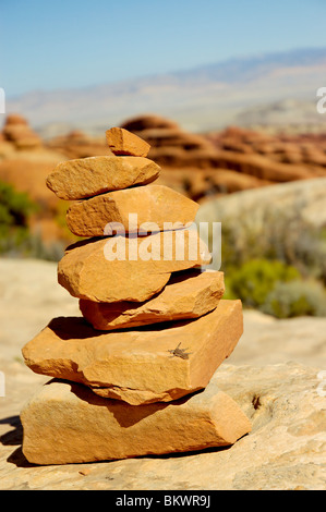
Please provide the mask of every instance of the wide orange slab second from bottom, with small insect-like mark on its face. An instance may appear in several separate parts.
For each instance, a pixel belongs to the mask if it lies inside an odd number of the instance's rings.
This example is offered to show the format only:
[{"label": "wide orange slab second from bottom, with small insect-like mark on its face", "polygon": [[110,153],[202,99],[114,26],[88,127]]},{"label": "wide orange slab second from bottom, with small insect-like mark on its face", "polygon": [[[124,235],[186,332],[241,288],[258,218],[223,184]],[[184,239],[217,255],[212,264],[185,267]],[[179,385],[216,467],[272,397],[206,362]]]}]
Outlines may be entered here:
[{"label": "wide orange slab second from bottom, with small insect-like mark on its face", "polygon": [[55,318],[23,348],[36,374],[81,382],[132,405],[169,402],[205,388],[243,331],[241,301],[196,320],[101,333],[84,318]]}]

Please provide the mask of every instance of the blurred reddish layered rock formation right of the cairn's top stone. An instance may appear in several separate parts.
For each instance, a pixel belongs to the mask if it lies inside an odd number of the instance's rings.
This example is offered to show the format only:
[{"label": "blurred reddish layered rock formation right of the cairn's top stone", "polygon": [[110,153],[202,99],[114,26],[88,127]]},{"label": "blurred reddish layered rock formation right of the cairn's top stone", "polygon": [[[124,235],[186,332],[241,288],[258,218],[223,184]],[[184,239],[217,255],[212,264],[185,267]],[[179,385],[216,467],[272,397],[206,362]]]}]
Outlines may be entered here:
[{"label": "blurred reddish layered rock formation right of the cairn's top stone", "polygon": [[326,143],[321,136],[291,138],[237,126],[194,135],[157,115],[128,120],[122,127],[150,144],[149,157],[162,167],[162,183],[198,202],[326,175]]}]

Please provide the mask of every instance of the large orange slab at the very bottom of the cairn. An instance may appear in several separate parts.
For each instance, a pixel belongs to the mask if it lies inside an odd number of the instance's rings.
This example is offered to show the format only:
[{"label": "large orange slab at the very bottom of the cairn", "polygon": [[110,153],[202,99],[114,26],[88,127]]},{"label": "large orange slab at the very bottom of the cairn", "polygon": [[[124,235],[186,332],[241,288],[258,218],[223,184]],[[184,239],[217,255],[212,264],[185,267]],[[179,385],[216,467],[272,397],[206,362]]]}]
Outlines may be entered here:
[{"label": "large orange slab at the very bottom of the cairn", "polygon": [[134,406],[52,380],[32,397],[21,420],[23,453],[41,465],[225,447],[251,430],[239,405],[213,382],[169,404]]}]

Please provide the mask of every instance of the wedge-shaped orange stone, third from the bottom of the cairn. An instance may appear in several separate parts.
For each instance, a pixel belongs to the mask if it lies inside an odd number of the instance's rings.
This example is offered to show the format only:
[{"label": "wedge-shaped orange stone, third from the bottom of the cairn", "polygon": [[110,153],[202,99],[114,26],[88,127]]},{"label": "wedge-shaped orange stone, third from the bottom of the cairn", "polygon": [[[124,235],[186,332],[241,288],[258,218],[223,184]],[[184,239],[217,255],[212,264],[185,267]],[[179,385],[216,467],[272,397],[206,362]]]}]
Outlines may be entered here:
[{"label": "wedge-shaped orange stone, third from the bottom of the cairn", "polygon": [[80,308],[95,329],[113,330],[201,317],[217,306],[224,292],[222,272],[189,270],[172,276],[158,295],[141,304],[81,300]]}]

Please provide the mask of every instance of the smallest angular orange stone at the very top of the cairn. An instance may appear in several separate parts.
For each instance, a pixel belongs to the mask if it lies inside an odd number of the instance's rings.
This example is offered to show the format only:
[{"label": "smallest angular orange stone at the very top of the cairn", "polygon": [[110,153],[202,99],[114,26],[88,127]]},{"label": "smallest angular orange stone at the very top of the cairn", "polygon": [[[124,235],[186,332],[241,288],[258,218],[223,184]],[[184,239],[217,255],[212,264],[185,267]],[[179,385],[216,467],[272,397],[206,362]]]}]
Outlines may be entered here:
[{"label": "smallest angular orange stone at the very top of the cairn", "polygon": [[150,146],[137,135],[121,127],[112,127],[106,131],[109,148],[114,155],[131,155],[134,157],[147,157]]}]

